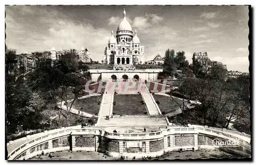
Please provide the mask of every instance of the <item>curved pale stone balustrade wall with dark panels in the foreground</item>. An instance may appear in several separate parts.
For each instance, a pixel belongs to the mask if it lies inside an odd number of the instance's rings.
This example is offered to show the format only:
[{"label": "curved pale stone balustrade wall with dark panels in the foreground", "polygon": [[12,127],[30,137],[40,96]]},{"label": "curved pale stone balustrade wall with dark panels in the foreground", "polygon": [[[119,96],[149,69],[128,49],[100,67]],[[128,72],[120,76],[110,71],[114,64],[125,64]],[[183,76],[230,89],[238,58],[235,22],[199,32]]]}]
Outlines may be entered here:
[{"label": "curved pale stone balustrade wall with dark panels in the foreground", "polygon": [[11,151],[8,160],[28,159],[41,154],[42,151],[48,153],[60,150],[98,151],[113,157],[156,157],[180,148],[221,148],[212,143],[214,139],[218,139],[219,142],[237,141],[239,146],[225,149],[251,153],[249,135],[198,125],[143,133],[112,133],[101,128],[81,128],[79,125],[45,131],[33,137],[34,139],[29,137],[29,140],[27,138],[26,143]]}]

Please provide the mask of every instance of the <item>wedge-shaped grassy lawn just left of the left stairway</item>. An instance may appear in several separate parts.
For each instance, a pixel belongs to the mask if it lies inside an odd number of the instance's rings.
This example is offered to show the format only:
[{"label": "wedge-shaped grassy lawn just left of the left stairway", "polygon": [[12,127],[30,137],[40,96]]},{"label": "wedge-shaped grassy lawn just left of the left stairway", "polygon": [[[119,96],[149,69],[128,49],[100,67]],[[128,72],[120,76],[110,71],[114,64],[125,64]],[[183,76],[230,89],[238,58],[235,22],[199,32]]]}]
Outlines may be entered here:
[{"label": "wedge-shaped grassy lawn just left of the left stairway", "polygon": [[78,110],[83,107],[83,112],[95,115],[99,113],[100,104],[98,104],[98,101],[102,101],[102,96],[91,96],[76,100],[72,107]]}]

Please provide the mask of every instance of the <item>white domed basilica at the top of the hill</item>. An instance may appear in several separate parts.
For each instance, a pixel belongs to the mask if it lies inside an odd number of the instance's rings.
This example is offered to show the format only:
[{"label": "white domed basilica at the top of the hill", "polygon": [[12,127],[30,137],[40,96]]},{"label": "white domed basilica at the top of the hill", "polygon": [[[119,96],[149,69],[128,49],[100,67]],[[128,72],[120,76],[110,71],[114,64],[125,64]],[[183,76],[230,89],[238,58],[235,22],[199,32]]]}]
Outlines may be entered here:
[{"label": "white domed basilica at the top of the hill", "polygon": [[125,10],[123,10],[123,19],[118,25],[116,36],[113,31],[111,34],[109,44],[104,49],[103,61],[105,64],[144,64],[144,46],[140,45],[136,30],[133,35],[132,26],[126,19]]}]

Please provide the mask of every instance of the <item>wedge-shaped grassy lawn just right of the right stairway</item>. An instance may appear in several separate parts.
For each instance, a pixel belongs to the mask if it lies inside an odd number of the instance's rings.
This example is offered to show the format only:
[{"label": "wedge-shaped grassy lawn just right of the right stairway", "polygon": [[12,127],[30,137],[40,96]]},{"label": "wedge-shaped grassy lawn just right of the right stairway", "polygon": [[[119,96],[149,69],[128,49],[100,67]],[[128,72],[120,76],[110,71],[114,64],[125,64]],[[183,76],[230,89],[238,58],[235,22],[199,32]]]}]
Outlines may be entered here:
[{"label": "wedge-shaped grassy lawn just right of the right stairway", "polygon": [[[163,95],[153,95],[155,101],[159,101],[160,104],[158,104],[158,107],[160,111],[165,114],[174,112],[176,109],[179,109],[179,105],[171,98],[168,96],[163,96]],[[176,99],[180,105],[182,105],[182,100]],[[185,105],[187,102],[185,101]]]}]

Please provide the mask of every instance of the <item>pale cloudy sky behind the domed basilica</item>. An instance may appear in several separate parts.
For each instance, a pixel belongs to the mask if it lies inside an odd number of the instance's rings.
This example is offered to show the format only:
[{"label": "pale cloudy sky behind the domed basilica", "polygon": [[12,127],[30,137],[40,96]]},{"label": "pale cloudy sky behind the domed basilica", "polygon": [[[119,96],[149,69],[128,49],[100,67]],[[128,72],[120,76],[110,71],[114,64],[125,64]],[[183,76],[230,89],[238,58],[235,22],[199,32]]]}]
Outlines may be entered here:
[{"label": "pale cloudy sky behind the domed basilica", "polygon": [[228,70],[249,72],[247,6],[6,6],[6,45],[17,53],[88,48],[103,60],[125,8],[145,61],[166,49],[207,52]]}]

